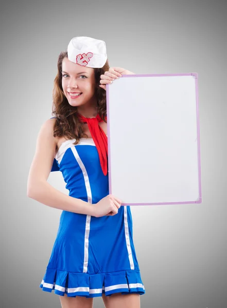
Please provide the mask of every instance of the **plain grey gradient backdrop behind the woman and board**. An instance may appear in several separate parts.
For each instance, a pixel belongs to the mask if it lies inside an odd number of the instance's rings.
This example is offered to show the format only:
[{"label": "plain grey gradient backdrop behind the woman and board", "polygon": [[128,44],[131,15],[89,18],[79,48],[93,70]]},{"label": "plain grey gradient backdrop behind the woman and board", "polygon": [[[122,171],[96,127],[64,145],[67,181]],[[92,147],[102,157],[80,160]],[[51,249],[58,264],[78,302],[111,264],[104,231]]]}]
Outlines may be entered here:
[{"label": "plain grey gradient backdrop behind the woman and board", "polygon": [[[57,57],[74,36],[107,44],[110,66],[199,74],[202,203],[131,206],[151,308],[224,308],[226,269],[226,4],[222,1],[9,1],[1,7],[1,308],[60,307],[39,284],[61,210],[27,197]],[[143,102],[141,102],[143,116]],[[49,181],[61,191],[60,172]],[[101,298],[94,307],[103,307]]]}]

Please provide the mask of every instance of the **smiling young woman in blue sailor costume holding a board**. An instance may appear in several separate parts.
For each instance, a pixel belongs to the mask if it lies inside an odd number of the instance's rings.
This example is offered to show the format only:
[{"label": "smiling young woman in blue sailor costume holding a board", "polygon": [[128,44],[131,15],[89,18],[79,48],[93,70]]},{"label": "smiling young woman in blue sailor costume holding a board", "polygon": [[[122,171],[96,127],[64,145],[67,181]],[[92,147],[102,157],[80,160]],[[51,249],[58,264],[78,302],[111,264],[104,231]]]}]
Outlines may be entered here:
[{"label": "smiling young woman in blue sailor costume holding a board", "polygon": [[[139,308],[145,294],[133,244],[130,206],[109,194],[106,84],[133,74],[110,68],[103,41],[74,37],[58,57],[53,114],[42,125],[28,196],[62,210],[40,287],[63,308]],[[69,194],[48,184],[62,172]]]}]

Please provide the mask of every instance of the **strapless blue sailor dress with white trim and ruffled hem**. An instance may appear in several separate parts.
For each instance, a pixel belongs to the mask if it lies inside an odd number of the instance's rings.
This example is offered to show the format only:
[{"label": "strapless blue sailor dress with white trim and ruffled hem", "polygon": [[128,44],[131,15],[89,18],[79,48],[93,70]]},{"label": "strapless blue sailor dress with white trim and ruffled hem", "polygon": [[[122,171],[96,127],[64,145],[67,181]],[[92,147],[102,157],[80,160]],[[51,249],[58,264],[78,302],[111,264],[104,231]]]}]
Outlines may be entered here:
[{"label": "strapless blue sailor dress with white trim and ruffled hem", "polygon": [[[61,171],[69,196],[91,204],[109,195],[93,139],[63,142],[51,171]],[[43,291],[70,297],[145,294],[133,244],[130,206],[114,216],[94,217],[63,210],[43,280]]]}]

